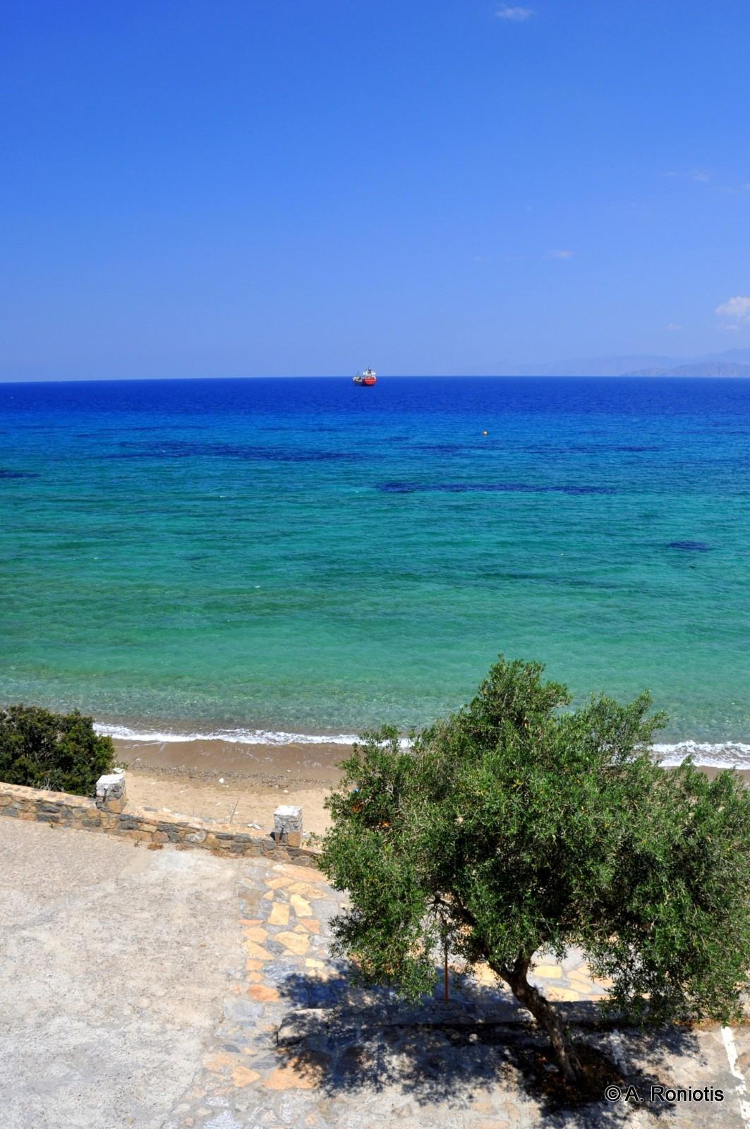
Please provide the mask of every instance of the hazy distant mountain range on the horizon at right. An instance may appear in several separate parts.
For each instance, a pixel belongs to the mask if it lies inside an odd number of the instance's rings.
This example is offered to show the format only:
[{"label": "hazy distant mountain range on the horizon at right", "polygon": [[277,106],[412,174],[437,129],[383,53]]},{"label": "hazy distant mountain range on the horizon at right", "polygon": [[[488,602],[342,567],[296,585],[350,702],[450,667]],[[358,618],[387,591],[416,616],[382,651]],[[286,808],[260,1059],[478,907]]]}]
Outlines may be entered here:
[{"label": "hazy distant mountain range on the horizon at right", "polygon": [[750,349],[727,349],[705,357],[583,357],[517,365],[502,361],[469,369],[468,376],[749,376]]}]

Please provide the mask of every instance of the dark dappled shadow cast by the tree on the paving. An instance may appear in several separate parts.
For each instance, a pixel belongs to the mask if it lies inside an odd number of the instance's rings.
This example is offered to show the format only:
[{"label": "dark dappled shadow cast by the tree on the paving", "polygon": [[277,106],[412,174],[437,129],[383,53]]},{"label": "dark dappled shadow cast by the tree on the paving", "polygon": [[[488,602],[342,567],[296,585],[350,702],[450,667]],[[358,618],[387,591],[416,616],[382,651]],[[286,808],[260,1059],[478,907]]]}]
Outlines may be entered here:
[{"label": "dark dappled shadow cast by the tree on the paving", "polygon": [[[674,1106],[649,1101],[652,1085],[673,1085],[660,1070],[689,1056],[700,1065],[696,1035],[683,1027],[618,1031],[593,1003],[558,1004],[592,1070],[588,1094],[565,1086],[546,1038],[502,990],[464,980],[450,1004],[437,998],[399,1003],[387,990],[351,986],[345,964],[322,980],[295,973],[280,984],[290,1004],[277,1034],[285,1065],[329,1097],[402,1094],[420,1106],[469,1111],[489,1099],[494,1113],[522,1095],[559,1126],[621,1124],[623,1101],[604,1100],[607,1086],[635,1086],[652,1115]],[[643,1066],[646,1064],[646,1066]],[[517,1112],[517,1111],[516,1111]]]}]

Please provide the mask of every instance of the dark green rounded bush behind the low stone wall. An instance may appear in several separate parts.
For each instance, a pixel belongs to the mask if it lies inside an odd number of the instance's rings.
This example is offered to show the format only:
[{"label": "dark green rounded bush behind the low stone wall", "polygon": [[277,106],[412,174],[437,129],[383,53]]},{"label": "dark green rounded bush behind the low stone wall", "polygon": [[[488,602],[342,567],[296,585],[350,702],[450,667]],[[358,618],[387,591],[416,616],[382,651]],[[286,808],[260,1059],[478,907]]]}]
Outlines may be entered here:
[{"label": "dark green rounded bush behind the low stone wall", "polygon": [[36,706],[0,710],[0,780],[93,796],[96,781],[111,772],[111,737],[94,732],[90,717],[51,714]]}]

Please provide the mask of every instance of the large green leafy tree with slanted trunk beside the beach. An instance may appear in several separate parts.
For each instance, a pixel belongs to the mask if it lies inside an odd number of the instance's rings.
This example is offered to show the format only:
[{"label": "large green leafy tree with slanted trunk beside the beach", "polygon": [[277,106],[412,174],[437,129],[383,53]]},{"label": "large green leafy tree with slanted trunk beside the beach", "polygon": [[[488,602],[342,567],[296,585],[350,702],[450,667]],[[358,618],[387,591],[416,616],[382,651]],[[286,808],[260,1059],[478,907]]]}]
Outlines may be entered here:
[{"label": "large green leafy tree with slanted trunk beside the beach", "polygon": [[387,728],[356,746],[322,857],[351,902],[339,952],[417,997],[447,936],[552,1034],[526,971],[579,946],[626,1016],[729,1021],[750,968],[750,794],[734,772],[654,764],[647,694],[564,711],[542,672],[500,658],[411,750]]}]

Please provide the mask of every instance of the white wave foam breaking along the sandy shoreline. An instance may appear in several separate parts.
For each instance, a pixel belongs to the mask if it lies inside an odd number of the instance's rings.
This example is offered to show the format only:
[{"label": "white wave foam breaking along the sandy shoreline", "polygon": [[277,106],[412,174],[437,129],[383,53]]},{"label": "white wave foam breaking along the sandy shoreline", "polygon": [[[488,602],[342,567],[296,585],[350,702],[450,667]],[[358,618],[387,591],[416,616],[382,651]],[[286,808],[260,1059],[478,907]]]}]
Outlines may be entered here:
[{"label": "white wave foam breaking along the sandy shoreline", "polygon": [[[127,725],[106,725],[97,721],[97,733],[108,734],[120,741],[133,741],[143,745],[185,744],[192,741],[225,741],[230,745],[352,745],[359,739],[356,733],[286,733],[284,729],[210,729],[207,733],[172,733],[159,729],[132,729]],[[404,737],[401,746],[408,749]],[[665,768],[681,764],[686,756],[692,756],[696,764],[706,768],[750,769],[750,745],[741,742],[710,744],[700,741],[678,741],[674,744],[653,746],[659,762]]]}]

